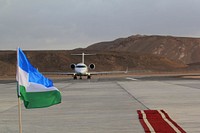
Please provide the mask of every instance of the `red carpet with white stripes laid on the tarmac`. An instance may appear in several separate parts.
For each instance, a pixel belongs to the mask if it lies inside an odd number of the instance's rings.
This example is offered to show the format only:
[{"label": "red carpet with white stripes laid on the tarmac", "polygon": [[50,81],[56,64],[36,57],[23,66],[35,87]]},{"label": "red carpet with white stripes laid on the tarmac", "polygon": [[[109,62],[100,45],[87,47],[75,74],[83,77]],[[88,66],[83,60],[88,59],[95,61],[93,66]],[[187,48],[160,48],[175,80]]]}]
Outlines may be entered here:
[{"label": "red carpet with white stripes laid on the tarmac", "polygon": [[164,110],[138,110],[145,133],[186,133]]}]

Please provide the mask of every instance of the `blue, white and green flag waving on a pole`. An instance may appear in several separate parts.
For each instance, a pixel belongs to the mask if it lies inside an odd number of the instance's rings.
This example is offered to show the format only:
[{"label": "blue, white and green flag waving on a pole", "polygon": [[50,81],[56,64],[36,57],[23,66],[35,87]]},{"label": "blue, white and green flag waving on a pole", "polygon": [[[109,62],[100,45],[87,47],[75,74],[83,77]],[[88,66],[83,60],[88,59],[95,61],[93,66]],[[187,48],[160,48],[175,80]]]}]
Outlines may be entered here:
[{"label": "blue, white and green flag waving on a pole", "polygon": [[27,109],[43,108],[61,103],[61,93],[53,82],[34,68],[23,51],[17,50],[18,97]]}]

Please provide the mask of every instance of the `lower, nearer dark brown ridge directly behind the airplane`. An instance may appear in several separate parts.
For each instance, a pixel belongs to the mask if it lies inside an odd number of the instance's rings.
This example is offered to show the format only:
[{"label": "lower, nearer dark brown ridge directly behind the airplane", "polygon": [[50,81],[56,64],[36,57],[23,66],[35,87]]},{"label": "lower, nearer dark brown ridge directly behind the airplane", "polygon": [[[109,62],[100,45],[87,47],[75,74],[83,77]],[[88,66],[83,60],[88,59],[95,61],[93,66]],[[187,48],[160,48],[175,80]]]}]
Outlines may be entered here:
[{"label": "lower, nearer dark brown ridge directly behind the airplane", "polygon": [[[96,65],[95,71],[116,70],[153,70],[170,71],[186,68],[181,63],[173,62],[166,57],[151,54],[137,54],[133,52],[108,52],[100,50],[71,50],[71,51],[25,51],[30,62],[41,72],[70,72],[72,63],[81,62],[76,53],[96,53],[85,57],[85,63]],[[15,75],[16,52],[0,51],[0,76]]]}]

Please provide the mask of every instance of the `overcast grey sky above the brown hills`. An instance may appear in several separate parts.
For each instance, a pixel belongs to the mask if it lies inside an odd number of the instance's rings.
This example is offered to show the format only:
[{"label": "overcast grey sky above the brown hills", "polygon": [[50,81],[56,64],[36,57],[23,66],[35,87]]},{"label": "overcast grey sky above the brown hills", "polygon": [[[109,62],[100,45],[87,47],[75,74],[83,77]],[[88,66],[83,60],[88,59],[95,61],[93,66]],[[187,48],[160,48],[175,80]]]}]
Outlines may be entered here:
[{"label": "overcast grey sky above the brown hills", "polygon": [[85,48],[135,34],[200,37],[200,0],[0,0],[0,50]]}]

